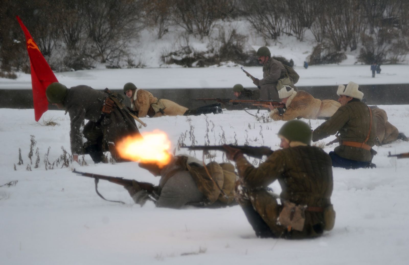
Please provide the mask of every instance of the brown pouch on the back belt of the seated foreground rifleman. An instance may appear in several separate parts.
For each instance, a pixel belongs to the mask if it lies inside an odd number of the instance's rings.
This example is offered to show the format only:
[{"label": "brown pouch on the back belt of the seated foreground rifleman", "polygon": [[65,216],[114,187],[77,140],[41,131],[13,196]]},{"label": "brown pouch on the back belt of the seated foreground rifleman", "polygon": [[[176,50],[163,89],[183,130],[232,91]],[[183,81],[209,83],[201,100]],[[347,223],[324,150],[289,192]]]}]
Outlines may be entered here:
[{"label": "brown pouch on the back belt of the seated foreground rifleman", "polygon": [[287,200],[283,203],[283,209],[277,219],[278,225],[288,227],[288,229],[294,229],[297,231],[303,231],[305,217],[305,205],[296,205]]}]

